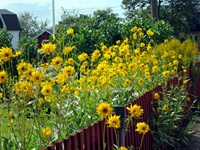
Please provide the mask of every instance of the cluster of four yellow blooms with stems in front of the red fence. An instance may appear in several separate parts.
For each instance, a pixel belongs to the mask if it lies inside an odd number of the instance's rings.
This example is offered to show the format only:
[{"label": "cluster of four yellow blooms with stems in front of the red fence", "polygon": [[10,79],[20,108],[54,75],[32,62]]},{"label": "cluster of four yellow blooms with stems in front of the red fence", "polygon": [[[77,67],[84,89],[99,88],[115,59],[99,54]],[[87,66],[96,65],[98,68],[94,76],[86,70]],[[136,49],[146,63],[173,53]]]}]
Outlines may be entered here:
[{"label": "cluster of four yellow blooms with stems in front of the red fence", "polygon": [[[135,105],[130,105],[130,107],[126,107],[126,109],[129,112],[129,116],[126,118],[126,129],[125,129],[125,133],[123,135],[123,138],[120,139],[119,134],[117,134],[117,130],[121,128],[121,119],[120,119],[120,115],[116,115],[115,112],[113,112],[113,108],[111,107],[111,105],[107,102],[101,102],[99,103],[99,105],[96,108],[97,114],[105,119],[105,126],[104,126],[104,134],[103,136],[105,136],[105,128],[106,125],[108,128],[113,128],[114,129],[114,133],[115,133],[115,137],[117,139],[117,143],[115,145],[113,145],[113,147],[115,147],[116,150],[127,150],[129,148],[126,148],[125,146],[120,145],[121,141],[119,140],[124,140],[125,139],[125,135],[129,130],[130,125],[133,124],[133,119],[138,119],[139,117],[141,117],[144,113],[144,110],[141,108],[141,106],[135,104]],[[145,122],[137,122],[137,124],[135,125],[136,129],[135,131],[138,132],[139,134],[142,134],[142,138],[141,138],[141,143],[139,146],[139,150],[142,149],[142,143],[144,140],[144,135],[150,131],[149,125]],[[103,137],[104,139],[104,137]],[[105,139],[104,139],[104,149],[106,148],[106,143],[105,143]],[[133,147],[131,147],[132,149]]]}]

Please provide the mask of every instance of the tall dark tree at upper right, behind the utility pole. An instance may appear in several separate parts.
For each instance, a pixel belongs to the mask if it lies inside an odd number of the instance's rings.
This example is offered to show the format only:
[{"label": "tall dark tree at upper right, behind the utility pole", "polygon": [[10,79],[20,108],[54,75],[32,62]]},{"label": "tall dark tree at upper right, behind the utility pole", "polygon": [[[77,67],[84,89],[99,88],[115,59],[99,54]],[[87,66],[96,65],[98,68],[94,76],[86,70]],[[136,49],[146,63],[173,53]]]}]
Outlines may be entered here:
[{"label": "tall dark tree at upper right, behind the utility pole", "polygon": [[[135,15],[149,12],[151,0],[123,0],[122,8],[125,15],[131,18]],[[199,0],[158,0],[158,19],[169,22],[175,30],[175,34],[189,30],[191,18],[200,7]],[[149,16],[149,14],[146,14]]]}]

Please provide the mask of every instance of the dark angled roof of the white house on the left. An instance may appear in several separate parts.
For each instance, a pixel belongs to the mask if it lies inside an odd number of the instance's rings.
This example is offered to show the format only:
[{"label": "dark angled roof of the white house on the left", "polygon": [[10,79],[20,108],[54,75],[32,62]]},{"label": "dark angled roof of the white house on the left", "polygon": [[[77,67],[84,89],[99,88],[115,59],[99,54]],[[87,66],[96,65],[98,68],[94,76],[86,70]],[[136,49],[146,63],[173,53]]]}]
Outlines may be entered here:
[{"label": "dark angled roof of the white house on the left", "polygon": [[21,30],[17,15],[7,9],[0,9],[0,22],[7,30]]}]

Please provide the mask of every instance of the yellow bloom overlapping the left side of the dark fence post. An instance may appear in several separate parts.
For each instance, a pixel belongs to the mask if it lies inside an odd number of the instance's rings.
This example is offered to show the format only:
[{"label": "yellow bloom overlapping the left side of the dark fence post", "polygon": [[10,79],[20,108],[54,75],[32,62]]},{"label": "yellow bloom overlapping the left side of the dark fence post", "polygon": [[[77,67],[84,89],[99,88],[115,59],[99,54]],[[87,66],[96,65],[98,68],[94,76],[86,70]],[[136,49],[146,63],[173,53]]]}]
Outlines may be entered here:
[{"label": "yellow bloom overlapping the left side of the dark fence post", "polygon": [[120,128],[120,116],[111,115],[106,120],[106,124],[108,124],[109,128]]}]

